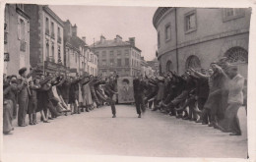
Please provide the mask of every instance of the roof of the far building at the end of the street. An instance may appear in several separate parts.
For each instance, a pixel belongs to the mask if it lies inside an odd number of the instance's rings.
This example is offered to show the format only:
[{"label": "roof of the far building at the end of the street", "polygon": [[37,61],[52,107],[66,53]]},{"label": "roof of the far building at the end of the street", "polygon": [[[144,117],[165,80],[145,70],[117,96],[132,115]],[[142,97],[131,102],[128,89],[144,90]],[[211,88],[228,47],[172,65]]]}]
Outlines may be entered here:
[{"label": "roof of the far building at the end of the street", "polygon": [[105,48],[105,47],[120,47],[120,46],[131,46],[137,49],[138,51],[141,52],[141,50],[135,46],[132,46],[129,41],[122,41],[122,40],[103,40],[102,42],[96,41],[95,44],[92,44],[92,48]]}]

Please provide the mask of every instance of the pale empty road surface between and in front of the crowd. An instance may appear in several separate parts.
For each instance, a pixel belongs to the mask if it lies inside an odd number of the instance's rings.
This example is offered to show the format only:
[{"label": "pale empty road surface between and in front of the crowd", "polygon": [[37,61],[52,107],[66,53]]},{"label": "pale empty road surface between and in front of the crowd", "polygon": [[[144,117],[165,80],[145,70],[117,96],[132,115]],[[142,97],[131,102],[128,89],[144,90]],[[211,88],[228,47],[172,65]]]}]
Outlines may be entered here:
[{"label": "pale empty road surface between and in front of the crowd", "polygon": [[4,154],[123,155],[152,157],[247,156],[246,116],[239,118],[241,136],[229,136],[213,128],[148,110],[137,118],[133,106],[118,105],[117,118],[110,107],[90,113],[59,117],[49,124],[15,128],[4,135]]}]

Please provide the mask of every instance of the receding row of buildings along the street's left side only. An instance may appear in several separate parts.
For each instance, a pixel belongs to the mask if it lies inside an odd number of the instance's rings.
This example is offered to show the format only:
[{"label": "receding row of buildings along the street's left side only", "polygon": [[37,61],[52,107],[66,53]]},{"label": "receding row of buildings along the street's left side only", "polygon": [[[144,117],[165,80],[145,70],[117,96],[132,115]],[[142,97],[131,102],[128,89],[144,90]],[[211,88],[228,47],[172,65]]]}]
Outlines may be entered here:
[{"label": "receding row of buildings along the street's left side only", "polygon": [[39,66],[38,73],[97,75],[97,56],[48,6],[7,4],[5,7],[4,73]]}]

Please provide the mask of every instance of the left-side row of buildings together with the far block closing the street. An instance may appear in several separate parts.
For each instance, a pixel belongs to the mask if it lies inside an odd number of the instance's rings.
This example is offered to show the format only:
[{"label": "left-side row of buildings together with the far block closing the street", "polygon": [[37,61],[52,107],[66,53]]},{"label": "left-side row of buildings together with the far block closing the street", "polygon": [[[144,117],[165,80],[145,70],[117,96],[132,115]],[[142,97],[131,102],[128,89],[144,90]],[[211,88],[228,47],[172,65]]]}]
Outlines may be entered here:
[{"label": "left-side row of buildings together with the far block closing the street", "polygon": [[[141,56],[135,37],[103,35],[92,45],[77,35],[78,27],[62,21],[48,6],[7,4],[5,7],[4,73],[18,75],[19,69],[39,66],[38,73],[72,76],[153,75],[154,66]],[[156,61],[155,61],[156,62]]]}]

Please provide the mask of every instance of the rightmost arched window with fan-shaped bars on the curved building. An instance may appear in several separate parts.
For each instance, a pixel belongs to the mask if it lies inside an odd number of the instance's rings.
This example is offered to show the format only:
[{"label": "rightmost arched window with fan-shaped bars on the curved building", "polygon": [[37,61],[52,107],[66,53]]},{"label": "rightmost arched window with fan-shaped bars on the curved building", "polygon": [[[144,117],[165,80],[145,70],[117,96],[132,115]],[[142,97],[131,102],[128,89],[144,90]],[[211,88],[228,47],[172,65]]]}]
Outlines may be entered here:
[{"label": "rightmost arched window with fan-shaped bars on the curved building", "polygon": [[248,52],[241,47],[232,47],[228,49],[224,56],[227,58],[227,61],[232,64],[248,63]]}]

